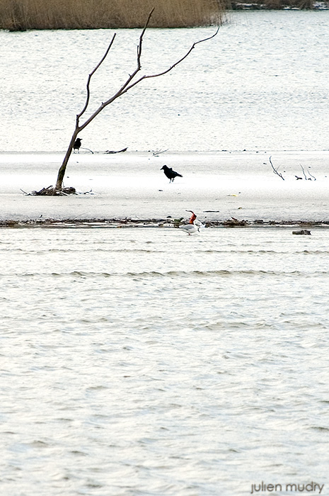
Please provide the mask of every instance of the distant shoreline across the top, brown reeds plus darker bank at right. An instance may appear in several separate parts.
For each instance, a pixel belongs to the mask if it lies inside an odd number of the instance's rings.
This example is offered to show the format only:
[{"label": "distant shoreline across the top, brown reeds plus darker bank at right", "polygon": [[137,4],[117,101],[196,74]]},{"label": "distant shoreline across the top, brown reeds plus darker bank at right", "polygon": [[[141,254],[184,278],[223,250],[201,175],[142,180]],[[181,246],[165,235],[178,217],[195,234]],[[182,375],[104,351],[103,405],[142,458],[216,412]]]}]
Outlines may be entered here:
[{"label": "distant shoreline across the top, brown reeds plus darker bank at right", "polygon": [[[325,11],[329,0],[158,0],[149,28],[195,28],[218,26],[234,11]],[[96,0],[45,4],[31,0],[28,8],[21,2],[4,1],[0,6],[0,30],[23,32],[30,30],[97,30],[143,28],[149,15],[149,3],[141,0],[139,8],[129,4],[104,4]]]}]

